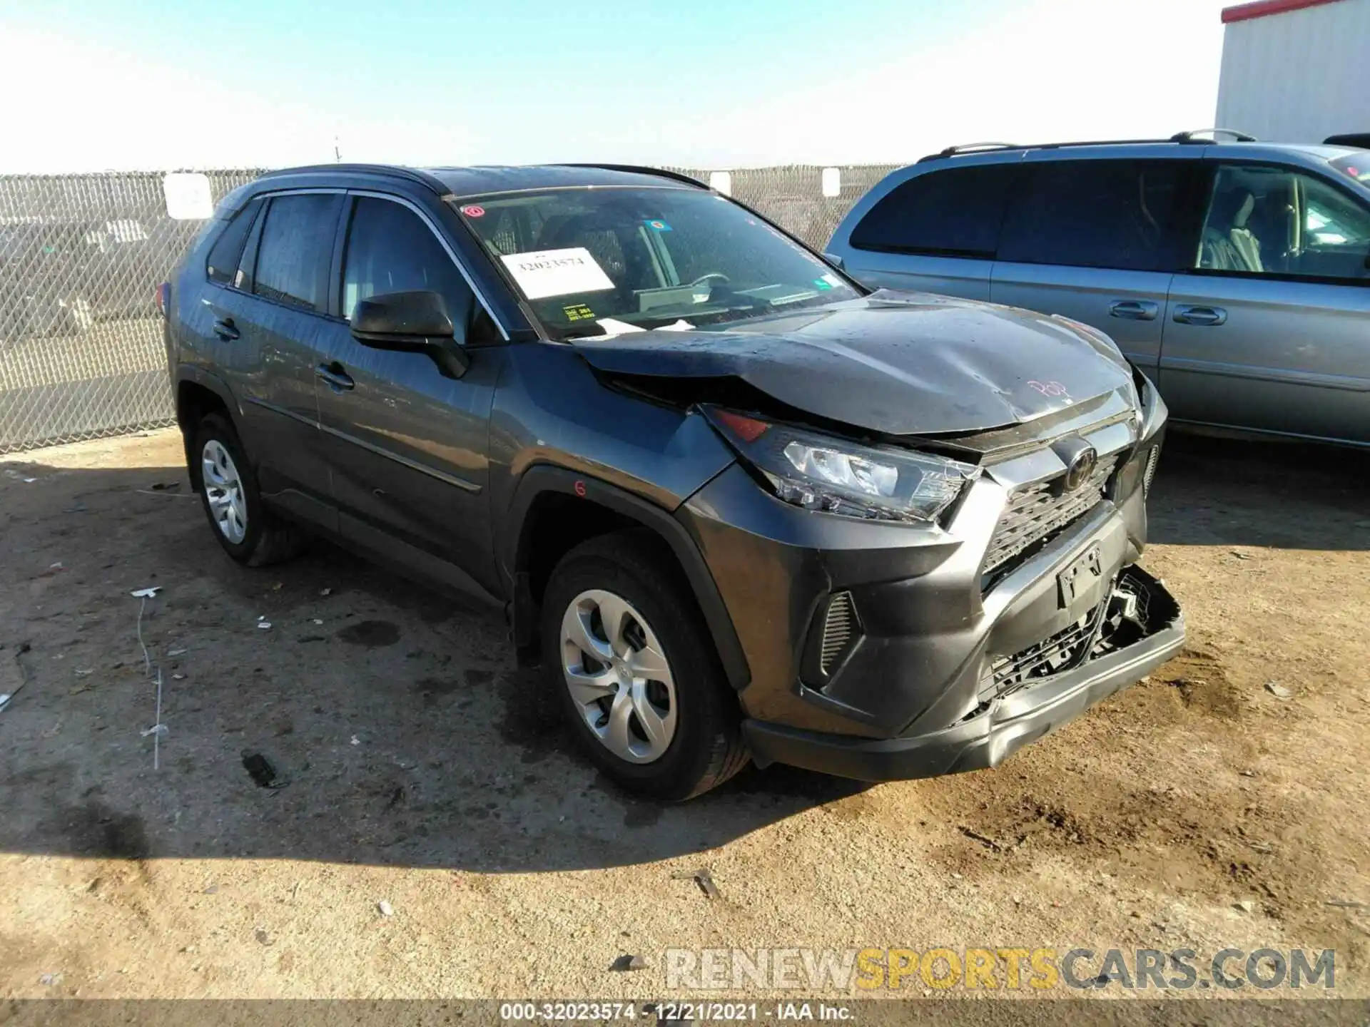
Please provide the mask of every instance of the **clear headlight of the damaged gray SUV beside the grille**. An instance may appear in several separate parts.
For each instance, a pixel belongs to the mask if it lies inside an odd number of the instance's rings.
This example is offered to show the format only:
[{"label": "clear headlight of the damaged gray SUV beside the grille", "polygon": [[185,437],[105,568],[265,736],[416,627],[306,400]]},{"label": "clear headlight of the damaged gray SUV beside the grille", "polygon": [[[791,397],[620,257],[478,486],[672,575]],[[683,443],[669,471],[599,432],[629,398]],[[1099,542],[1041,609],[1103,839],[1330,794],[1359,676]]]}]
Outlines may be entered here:
[{"label": "clear headlight of the damaged gray SUV beside the grille", "polygon": [[933,523],[980,474],[944,456],[875,449],[717,407],[706,414],[777,497],[804,509]]}]

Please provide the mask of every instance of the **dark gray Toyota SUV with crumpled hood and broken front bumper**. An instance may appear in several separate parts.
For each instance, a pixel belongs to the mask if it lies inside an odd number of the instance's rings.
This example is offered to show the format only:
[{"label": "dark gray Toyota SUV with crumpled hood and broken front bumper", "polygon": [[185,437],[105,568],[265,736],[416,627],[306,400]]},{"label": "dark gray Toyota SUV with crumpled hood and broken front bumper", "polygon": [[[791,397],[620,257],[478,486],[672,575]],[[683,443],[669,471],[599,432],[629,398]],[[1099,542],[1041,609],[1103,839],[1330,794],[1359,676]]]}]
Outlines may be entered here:
[{"label": "dark gray Toyota SUV with crumpled hood and broken front bumper", "polygon": [[160,301],[219,545],[503,605],[629,789],[993,767],[1184,639],[1136,566],[1166,408],[1106,335],[870,292],[682,177],[274,173]]}]

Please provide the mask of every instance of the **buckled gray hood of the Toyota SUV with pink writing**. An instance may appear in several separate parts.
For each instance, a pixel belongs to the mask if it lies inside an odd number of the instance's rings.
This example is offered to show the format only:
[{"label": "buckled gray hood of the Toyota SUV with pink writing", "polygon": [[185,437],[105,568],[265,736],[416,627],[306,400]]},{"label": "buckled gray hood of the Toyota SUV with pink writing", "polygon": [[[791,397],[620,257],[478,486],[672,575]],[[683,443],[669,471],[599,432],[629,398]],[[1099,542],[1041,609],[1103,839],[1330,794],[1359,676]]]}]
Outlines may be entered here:
[{"label": "buckled gray hood of the Toyota SUV with pink writing", "polygon": [[1117,348],[1071,325],[882,289],[718,329],[633,331],[573,345],[601,371],[732,375],[815,416],[912,435],[1008,427],[1118,389],[1136,401]]}]

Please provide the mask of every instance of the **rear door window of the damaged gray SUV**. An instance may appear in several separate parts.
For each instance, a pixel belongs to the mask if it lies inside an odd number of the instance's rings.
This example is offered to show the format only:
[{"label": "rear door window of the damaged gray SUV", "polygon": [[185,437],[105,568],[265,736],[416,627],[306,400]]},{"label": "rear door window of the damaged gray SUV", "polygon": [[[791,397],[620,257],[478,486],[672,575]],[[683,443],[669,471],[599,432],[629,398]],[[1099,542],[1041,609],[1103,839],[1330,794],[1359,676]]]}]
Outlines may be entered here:
[{"label": "rear door window of the damaged gray SUV", "polygon": [[341,196],[277,196],[266,211],[252,292],[277,303],[323,312],[329,303],[329,259]]}]

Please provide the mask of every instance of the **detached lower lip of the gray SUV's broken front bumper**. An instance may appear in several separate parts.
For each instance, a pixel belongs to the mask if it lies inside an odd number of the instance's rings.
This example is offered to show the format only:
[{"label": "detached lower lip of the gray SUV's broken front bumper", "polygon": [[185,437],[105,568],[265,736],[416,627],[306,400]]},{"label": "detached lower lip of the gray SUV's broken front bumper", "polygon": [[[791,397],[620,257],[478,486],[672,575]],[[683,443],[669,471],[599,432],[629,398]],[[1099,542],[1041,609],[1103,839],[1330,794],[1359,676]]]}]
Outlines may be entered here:
[{"label": "detached lower lip of the gray SUV's broken front bumper", "polygon": [[1132,645],[1073,670],[1034,679],[993,700],[978,715],[922,734],[862,738],[749,719],[744,730],[754,759],[760,765],[785,763],[860,781],[929,778],[997,767],[1022,746],[1138,681],[1184,645],[1185,626],[1178,604],[1156,579],[1136,568],[1132,574],[1145,582],[1154,608],[1173,611],[1173,616]]}]

